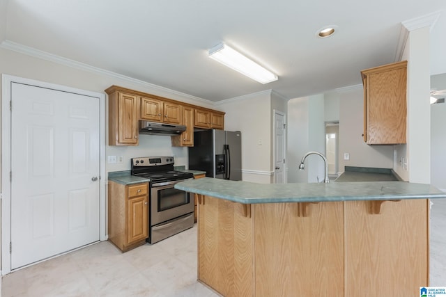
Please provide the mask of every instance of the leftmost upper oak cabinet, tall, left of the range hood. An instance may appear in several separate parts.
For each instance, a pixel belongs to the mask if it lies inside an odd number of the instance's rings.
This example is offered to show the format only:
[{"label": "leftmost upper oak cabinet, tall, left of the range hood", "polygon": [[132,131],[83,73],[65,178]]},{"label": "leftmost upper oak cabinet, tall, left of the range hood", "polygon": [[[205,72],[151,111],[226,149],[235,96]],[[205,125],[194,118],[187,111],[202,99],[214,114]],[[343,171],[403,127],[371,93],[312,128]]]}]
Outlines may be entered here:
[{"label": "leftmost upper oak cabinet, tall, left of the range hood", "polygon": [[108,88],[109,145],[138,145],[139,98]]}]

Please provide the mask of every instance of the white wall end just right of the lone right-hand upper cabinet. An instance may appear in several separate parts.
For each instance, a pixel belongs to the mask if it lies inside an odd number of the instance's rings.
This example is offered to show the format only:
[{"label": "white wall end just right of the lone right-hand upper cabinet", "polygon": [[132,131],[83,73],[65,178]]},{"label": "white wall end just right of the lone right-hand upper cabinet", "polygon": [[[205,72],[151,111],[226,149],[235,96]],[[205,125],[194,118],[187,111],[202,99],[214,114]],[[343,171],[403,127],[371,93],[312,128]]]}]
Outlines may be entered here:
[{"label": "white wall end just right of the lone right-hand upper cabinet", "polygon": [[[395,145],[393,168],[408,182],[431,182],[431,107],[429,105],[429,27],[410,31],[403,60],[408,61],[407,145]],[[400,156],[408,165],[401,167]]]}]

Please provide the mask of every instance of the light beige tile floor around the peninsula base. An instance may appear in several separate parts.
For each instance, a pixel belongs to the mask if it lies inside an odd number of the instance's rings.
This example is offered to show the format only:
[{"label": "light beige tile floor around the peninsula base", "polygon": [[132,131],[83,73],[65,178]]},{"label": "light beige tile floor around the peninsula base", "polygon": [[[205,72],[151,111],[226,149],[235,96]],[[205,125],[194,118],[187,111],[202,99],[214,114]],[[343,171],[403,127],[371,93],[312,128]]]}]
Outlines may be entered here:
[{"label": "light beige tile floor around the peninsula base", "polygon": [[[446,287],[446,200],[431,209],[431,287]],[[121,253],[104,241],[10,273],[2,297],[218,296],[197,282],[197,227]]]}]

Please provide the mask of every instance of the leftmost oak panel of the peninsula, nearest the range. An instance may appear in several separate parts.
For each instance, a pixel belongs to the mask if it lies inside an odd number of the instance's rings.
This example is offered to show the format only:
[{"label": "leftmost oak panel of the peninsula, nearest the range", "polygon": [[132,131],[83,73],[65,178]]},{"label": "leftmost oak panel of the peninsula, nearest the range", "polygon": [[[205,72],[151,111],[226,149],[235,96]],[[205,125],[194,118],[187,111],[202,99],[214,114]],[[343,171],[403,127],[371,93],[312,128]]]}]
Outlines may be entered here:
[{"label": "leftmost oak panel of the peninsula, nearest the range", "polygon": [[199,280],[223,296],[253,296],[252,219],[243,204],[201,196],[198,208]]}]

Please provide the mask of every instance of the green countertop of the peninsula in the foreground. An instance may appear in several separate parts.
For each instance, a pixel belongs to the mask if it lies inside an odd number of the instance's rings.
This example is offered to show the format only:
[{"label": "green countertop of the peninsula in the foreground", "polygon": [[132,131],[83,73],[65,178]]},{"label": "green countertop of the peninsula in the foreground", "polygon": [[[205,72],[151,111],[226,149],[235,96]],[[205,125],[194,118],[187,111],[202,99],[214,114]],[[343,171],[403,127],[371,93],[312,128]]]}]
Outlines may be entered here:
[{"label": "green countertop of the peninsula in the foreground", "polygon": [[430,184],[408,182],[255,184],[204,177],[180,182],[175,188],[243,204],[446,198]]}]

